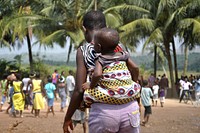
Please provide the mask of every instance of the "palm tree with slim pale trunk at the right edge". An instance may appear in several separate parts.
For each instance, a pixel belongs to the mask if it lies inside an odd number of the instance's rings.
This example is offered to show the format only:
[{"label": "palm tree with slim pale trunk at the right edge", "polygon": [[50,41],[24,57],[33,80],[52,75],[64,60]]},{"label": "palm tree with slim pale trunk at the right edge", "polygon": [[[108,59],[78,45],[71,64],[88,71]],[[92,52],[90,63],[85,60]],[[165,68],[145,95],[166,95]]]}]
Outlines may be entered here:
[{"label": "palm tree with slim pale trunk at the right edge", "polygon": [[188,66],[188,50],[195,48],[195,46],[200,45],[200,1],[194,0],[189,3],[188,8],[185,10],[185,16],[180,21],[179,28],[179,36],[184,39],[182,46],[184,47],[184,69],[183,74],[185,75],[187,72]]}]

